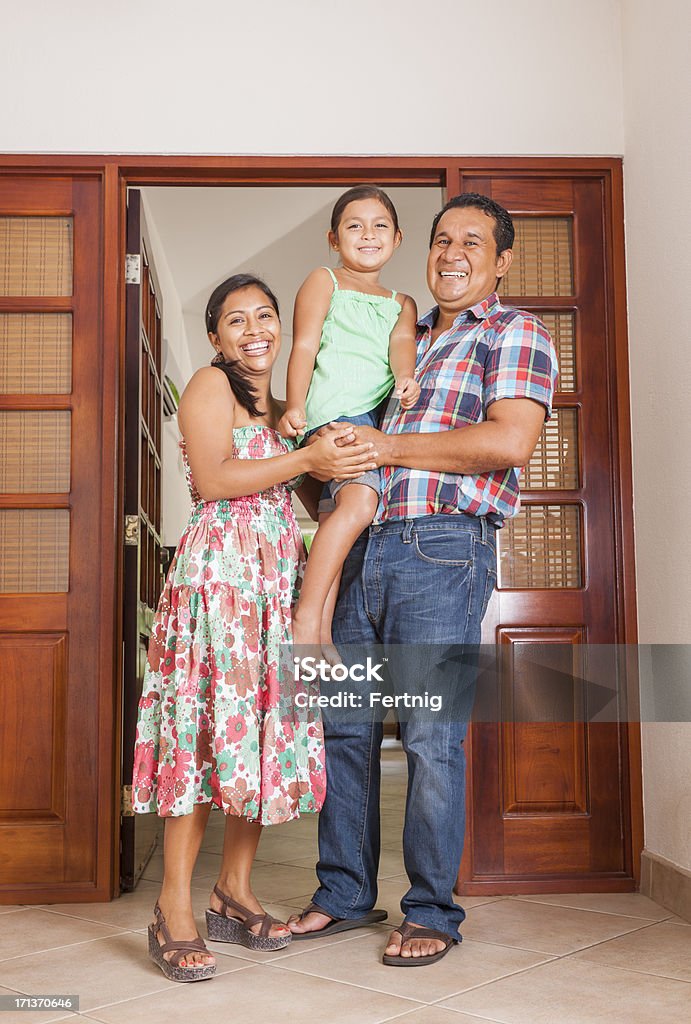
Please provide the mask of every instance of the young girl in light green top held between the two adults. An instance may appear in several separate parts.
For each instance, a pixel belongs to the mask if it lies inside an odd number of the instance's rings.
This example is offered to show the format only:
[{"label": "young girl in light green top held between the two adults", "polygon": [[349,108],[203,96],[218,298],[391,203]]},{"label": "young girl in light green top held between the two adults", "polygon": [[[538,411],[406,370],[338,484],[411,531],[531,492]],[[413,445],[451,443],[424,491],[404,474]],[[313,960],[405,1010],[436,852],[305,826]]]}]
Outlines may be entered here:
[{"label": "young girl in light green top held between the two adults", "polygon": [[[378,427],[393,388],[403,409],[420,394],[414,379],[415,302],[379,283],[401,242],[398,216],[376,185],[355,185],[337,201],[329,244],[341,258],[336,271],[318,267],[295,301],[288,400],[278,429],[285,437],[334,420]],[[379,502],[375,470],[356,480],[332,480],[333,513],[319,516],[293,618],[293,642],[332,646],[331,621],[343,562],[372,522]]]}]

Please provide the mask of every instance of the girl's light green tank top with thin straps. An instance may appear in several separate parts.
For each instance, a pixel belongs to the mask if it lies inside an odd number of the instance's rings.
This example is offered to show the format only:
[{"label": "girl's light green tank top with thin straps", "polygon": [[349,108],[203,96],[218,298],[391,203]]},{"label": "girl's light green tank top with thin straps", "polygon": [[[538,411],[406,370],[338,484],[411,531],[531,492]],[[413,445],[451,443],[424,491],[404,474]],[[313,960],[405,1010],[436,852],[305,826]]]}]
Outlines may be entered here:
[{"label": "girl's light green tank top with thin straps", "polygon": [[306,402],[307,430],[375,409],[393,387],[389,335],[400,314],[396,293],[340,289],[336,274]]}]

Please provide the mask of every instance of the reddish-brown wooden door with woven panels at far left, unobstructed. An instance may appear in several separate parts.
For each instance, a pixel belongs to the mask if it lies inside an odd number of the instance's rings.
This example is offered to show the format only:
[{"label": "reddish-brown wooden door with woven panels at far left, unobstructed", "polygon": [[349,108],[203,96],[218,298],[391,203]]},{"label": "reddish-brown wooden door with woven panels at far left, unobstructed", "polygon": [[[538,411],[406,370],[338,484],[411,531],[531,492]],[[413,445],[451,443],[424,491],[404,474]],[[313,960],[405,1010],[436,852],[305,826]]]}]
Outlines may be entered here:
[{"label": "reddish-brown wooden door with woven panels at far left, unobstructed", "polygon": [[0,903],[111,889],[100,198],[0,175]]}]

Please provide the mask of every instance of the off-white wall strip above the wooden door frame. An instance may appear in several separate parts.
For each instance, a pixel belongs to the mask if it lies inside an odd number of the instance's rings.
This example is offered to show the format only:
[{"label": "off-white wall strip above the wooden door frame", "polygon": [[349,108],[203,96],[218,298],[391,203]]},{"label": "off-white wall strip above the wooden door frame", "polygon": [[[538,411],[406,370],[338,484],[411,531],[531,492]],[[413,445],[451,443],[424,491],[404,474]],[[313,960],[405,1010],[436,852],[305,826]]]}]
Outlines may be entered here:
[{"label": "off-white wall strip above the wooden door frame", "polygon": [[619,155],[618,18],[619,0],[24,0],[0,147]]}]

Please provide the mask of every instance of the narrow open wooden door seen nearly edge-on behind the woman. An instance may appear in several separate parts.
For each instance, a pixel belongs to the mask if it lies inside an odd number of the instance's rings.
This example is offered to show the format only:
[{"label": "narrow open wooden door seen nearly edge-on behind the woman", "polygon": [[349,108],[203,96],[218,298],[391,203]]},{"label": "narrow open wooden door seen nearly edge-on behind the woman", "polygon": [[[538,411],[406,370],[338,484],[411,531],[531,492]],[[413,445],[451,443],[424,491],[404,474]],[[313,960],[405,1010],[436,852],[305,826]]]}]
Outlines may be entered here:
[{"label": "narrow open wooden door seen nearly edge-on behind the woman", "polygon": [[121,888],[136,882],[161,833],[155,815],[131,809],[137,703],[154,611],[163,585],[161,563],[161,289],[141,193],[127,194],[125,341],[125,550]]}]

